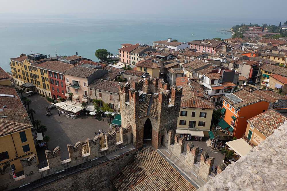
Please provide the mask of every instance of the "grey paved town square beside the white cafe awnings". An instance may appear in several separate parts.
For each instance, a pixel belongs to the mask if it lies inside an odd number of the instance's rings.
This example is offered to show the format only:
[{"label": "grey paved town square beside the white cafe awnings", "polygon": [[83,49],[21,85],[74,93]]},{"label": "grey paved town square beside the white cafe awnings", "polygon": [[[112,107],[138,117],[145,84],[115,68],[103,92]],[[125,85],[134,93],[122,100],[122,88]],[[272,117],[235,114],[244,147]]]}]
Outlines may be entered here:
[{"label": "grey paved town square beside the white cafe awnings", "polygon": [[[46,116],[45,107],[50,104],[46,101],[46,98],[40,97],[37,94],[28,98],[32,101],[30,108],[36,111],[34,119],[40,120],[41,125],[45,125],[47,128],[44,134],[50,137],[50,141],[48,142],[49,149],[60,146],[62,160],[69,158],[67,144],[75,145],[77,141],[85,141],[87,138],[94,139],[94,132],[101,129],[106,132],[112,130],[108,124],[109,118],[103,118],[104,121],[103,119],[102,121],[98,121],[90,115],[85,116],[82,114],[76,119],[67,119],[65,116],[59,116],[56,109],[52,109],[53,115]],[[40,164],[42,163],[41,161],[46,161],[44,149],[39,149],[38,155]]]}]

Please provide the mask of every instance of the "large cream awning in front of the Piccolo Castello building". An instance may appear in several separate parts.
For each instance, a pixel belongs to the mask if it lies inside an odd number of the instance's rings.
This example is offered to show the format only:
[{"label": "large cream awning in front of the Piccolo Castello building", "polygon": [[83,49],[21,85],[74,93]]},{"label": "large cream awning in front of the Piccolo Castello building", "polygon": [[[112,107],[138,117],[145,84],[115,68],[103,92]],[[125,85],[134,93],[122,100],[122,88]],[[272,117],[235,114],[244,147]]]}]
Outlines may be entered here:
[{"label": "large cream awning in front of the Piccolo Castello building", "polygon": [[244,155],[247,155],[247,153],[252,149],[252,147],[245,142],[243,138],[236,139],[234,141],[228,141],[226,142],[226,145],[228,145],[232,150],[234,150],[238,155],[243,157]]}]

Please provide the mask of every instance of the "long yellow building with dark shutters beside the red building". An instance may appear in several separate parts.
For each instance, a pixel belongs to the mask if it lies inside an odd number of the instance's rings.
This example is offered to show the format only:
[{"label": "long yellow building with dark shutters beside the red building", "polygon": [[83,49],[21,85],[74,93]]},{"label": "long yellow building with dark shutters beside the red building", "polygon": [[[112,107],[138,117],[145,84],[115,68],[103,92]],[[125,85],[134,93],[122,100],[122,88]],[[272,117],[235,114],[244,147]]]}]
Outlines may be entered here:
[{"label": "long yellow building with dark shutters beside the red building", "polygon": [[[39,57],[36,57],[40,55]],[[42,58],[42,59],[41,59]],[[47,70],[43,70],[37,67],[34,67],[33,62],[43,62],[46,58],[46,55],[42,54],[32,54],[26,56],[21,54],[20,57],[11,58],[11,70],[14,82],[18,85],[23,85],[25,83],[32,83],[34,87],[30,87],[32,90],[44,94],[45,96],[51,97],[51,90],[49,84],[49,76]],[[36,60],[37,59],[37,60]],[[25,85],[24,85],[25,86]]]}]

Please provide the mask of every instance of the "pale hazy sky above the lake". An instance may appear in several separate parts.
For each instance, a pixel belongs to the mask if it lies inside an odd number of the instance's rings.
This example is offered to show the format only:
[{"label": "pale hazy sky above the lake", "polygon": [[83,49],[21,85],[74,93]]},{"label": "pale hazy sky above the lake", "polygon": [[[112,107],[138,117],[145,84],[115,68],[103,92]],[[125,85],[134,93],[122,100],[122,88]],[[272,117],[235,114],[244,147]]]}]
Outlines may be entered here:
[{"label": "pale hazy sky above the lake", "polygon": [[248,19],[286,21],[287,0],[10,0],[1,1],[0,16],[79,18]]}]

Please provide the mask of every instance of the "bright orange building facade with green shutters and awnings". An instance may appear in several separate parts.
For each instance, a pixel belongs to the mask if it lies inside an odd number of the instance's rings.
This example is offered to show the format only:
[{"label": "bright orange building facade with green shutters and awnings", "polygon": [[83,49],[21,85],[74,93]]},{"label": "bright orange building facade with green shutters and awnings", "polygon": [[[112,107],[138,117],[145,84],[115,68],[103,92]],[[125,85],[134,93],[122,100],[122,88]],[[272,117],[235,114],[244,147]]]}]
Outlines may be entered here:
[{"label": "bright orange building facade with green shutters and awnings", "polygon": [[221,120],[223,119],[229,125],[229,127],[226,124],[224,126],[228,129],[229,135],[241,138],[246,131],[246,120],[267,111],[268,106],[269,103],[267,101],[261,100],[240,108],[234,108],[223,98]]}]

